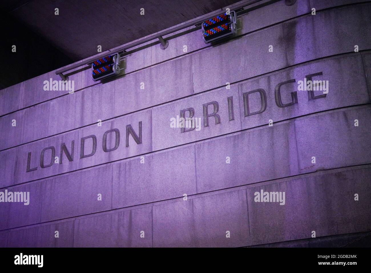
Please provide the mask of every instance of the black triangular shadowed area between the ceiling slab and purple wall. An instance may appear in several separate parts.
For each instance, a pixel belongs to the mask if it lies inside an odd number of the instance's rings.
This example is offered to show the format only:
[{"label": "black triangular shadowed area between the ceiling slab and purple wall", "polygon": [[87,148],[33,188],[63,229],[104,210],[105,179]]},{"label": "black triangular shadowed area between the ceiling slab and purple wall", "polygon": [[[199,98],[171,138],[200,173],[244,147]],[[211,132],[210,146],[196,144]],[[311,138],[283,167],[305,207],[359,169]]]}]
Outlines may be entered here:
[{"label": "black triangular shadowed area between the ceiling slab and purple wall", "polygon": [[76,61],[7,13],[0,13],[0,23],[0,89]]}]

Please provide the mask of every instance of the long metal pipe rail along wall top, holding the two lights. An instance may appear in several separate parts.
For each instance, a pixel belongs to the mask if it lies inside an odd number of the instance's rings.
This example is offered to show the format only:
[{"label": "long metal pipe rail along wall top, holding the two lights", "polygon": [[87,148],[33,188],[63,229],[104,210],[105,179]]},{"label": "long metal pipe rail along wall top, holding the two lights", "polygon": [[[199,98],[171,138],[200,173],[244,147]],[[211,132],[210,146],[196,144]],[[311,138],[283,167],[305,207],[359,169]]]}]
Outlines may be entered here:
[{"label": "long metal pipe rail along wall top, holding the two lights", "polygon": [[[239,3],[239,4],[234,4],[234,5],[231,5],[229,7],[229,9],[231,10],[231,12],[233,10],[237,10],[237,9],[240,9],[242,7],[246,7],[246,6],[249,6],[251,4],[254,4],[254,3],[257,3],[259,1],[262,1],[262,0],[248,0],[248,1],[244,1],[242,3]],[[226,7],[227,8],[227,7]],[[118,52],[122,52],[122,51],[125,51],[126,49],[129,49],[129,48],[133,48],[134,46],[137,46],[137,45],[141,45],[143,43],[147,43],[151,40],[154,40],[154,39],[159,39],[160,42],[162,43],[163,45],[163,42],[164,39],[162,38],[162,36],[165,36],[165,35],[168,35],[170,33],[174,33],[174,32],[177,32],[178,30],[182,30],[182,29],[185,29],[187,27],[190,27],[190,26],[193,26],[193,25],[196,25],[197,23],[200,23],[200,22],[203,22],[203,21],[206,21],[207,19],[210,19],[214,16],[217,16],[219,15],[221,12],[221,10],[216,10],[215,12],[211,13],[211,14],[206,14],[202,17],[198,17],[194,20],[191,20],[190,22],[184,24],[184,25],[180,25],[180,26],[177,26],[177,27],[171,27],[170,29],[168,30],[164,30],[160,33],[157,33],[156,35],[153,35],[153,36],[149,36],[147,38],[142,38],[142,39],[139,39],[135,42],[129,42],[129,43],[125,43],[125,45],[123,46],[120,46],[119,48],[116,48],[114,51],[112,51],[112,54],[115,54],[115,53],[118,53]],[[78,68],[82,65],[86,65],[86,64],[89,64],[89,63],[92,63],[93,61],[97,60],[97,59],[100,59],[100,58],[103,58],[105,56],[107,56],[107,52],[106,53],[102,53],[98,56],[95,56],[95,57],[92,57],[90,59],[87,59],[83,62],[78,62],[76,64],[73,64],[71,66],[68,66],[68,67],[65,67],[65,68],[62,68],[62,69],[58,69],[55,71],[55,74],[56,75],[59,75],[63,80],[66,80],[66,76],[63,75],[64,72],[66,71],[70,71],[72,69],[75,69],[75,68]]]}]

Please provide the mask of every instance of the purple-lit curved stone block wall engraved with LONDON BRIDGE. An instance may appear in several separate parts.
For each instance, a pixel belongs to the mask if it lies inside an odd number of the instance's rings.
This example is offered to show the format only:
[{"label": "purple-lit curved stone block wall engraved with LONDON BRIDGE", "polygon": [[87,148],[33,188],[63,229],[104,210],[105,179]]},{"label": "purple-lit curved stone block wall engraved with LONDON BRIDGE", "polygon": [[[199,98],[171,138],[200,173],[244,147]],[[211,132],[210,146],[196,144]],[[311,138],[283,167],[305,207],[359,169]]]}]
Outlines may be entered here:
[{"label": "purple-lit curved stone block wall engraved with LONDON BRIDGE", "polygon": [[[114,79],[69,72],[73,94],[43,90],[54,71],[1,90],[0,192],[30,192],[30,204],[0,202],[0,246],[240,247],[370,231],[371,2],[358,2],[278,1],[219,45],[188,29],[165,50],[130,52]],[[326,95],[298,90],[311,74]],[[279,107],[279,86],[282,104],[297,103]],[[200,130],[170,127],[189,108]],[[255,202],[260,190],[285,192],[285,205]]]}]

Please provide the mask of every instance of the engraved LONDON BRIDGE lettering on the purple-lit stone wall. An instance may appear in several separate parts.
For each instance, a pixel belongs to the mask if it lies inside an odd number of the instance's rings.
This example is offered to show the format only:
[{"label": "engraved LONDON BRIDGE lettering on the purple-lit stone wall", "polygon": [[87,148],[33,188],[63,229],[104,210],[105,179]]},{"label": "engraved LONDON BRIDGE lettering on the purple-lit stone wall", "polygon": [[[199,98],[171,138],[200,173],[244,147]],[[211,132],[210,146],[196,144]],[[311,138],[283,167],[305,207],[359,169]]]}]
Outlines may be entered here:
[{"label": "engraved LONDON BRIDGE lettering on the purple-lit stone wall", "polygon": [[[322,75],[322,72],[306,75],[305,78],[307,79],[307,81],[311,81],[312,77],[319,76],[319,75]],[[294,104],[298,103],[298,96],[297,96],[296,91],[291,92],[292,101],[290,103],[284,104],[284,103],[282,103],[282,100],[281,100],[281,87],[282,87],[282,85],[289,84],[289,83],[294,83],[294,82],[295,82],[295,79],[290,79],[288,81],[280,82],[279,84],[276,85],[276,87],[275,87],[275,101],[276,101],[276,105],[278,107],[284,108],[284,107],[289,107],[291,105],[294,105]],[[309,88],[309,89],[310,90],[307,90],[309,101],[326,97],[326,94],[314,95],[313,89],[312,88]],[[253,94],[253,93],[259,93],[260,94],[261,108],[258,111],[250,112],[250,109],[249,109],[249,95]],[[227,101],[228,101],[229,121],[232,121],[232,120],[234,120],[233,96],[228,97]],[[208,110],[209,105],[213,105],[213,113],[209,113],[209,110]],[[262,88],[259,88],[259,89],[252,90],[252,91],[249,91],[249,92],[244,92],[243,93],[243,105],[244,105],[244,116],[245,117],[263,113],[267,108],[267,95],[266,95],[265,90],[262,89]],[[218,111],[219,111],[219,103],[217,101],[211,101],[210,103],[203,104],[203,119],[204,119],[203,124],[204,124],[204,127],[209,127],[209,118],[210,117],[215,118],[215,124],[220,124],[221,123],[220,116],[219,116],[219,114],[217,114]],[[192,107],[180,110],[180,117],[185,118],[185,112],[188,112],[188,114],[189,114],[188,118],[192,118],[194,116],[194,108],[192,108]],[[138,134],[134,131],[131,124],[128,124],[126,126],[126,139],[125,139],[125,142],[126,142],[125,144],[126,145],[125,145],[125,147],[129,147],[129,136],[131,136],[137,144],[142,144],[142,121],[139,121],[138,125],[139,125]],[[180,128],[180,133],[193,131],[194,129],[195,129],[195,127],[190,127],[190,128],[181,127]],[[107,148],[107,135],[109,133],[112,133],[112,134],[115,133],[115,146],[112,147],[112,148]],[[85,151],[86,151],[85,140],[86,139],[91,139],[92,140],[92,141],[89,141],[89,143],[91,143],[91,145],[92,145],[92,147],[91,147],[92,152],[89,153],[89,154],[85,154]],[[102,149],[103,149],[104,152],[109,153],[109,152],[112,152],[112,151],[118,149],[119,144],[120,144],[120,131],[119,131],[119,129],[115,128],[115,129],[105,131],[105,133],[102,136]],[[73,161],[74,147],[75,147],[75,141],[74,140],[72,140],[72,142],[71,142],[70,149],[68,149],[68,147],[66,146],[65,143],[60,144],[59,164],[63,163],[63,153],[66,155],[67,159],[70,162]],[[90,136],[82,137],[81,140],[80,140],[80,147],[81,147],[81,149],[80,149],[80,159],[84,159],[86,157],[91,157],[91,156],[95,155],[95,152],[96,152],[96,149],[97,149],[97,137],[93,134],[90,135]],[[46,159],[47,163],[45,164],[45,152],[47,150],[50,150],[50,152],[48,152],[48,155],[50,154],[50,160],[49,160],[49,156],[48,156],[48,159]],[[53,164],[55,164],[55,154],[56,154],[56,149],[55,149],[54,146],[49,146],[49,147],[44,148],[40,152],[40,167],[42,169],[44,169],[44,168],[48,168],[48,167],[52,166]],[[34,170],[37,170],[37,168],[38,168],[38,166],[35,166],[35,163],[32,164],[31,156],[32,156],[31,152],[28,152],[26,172],[32,172]],[[35,167],[32,168],[31,165],[33,165]]]}]

